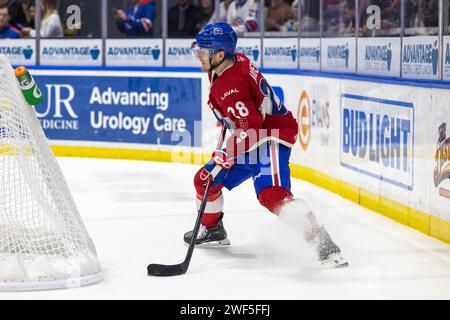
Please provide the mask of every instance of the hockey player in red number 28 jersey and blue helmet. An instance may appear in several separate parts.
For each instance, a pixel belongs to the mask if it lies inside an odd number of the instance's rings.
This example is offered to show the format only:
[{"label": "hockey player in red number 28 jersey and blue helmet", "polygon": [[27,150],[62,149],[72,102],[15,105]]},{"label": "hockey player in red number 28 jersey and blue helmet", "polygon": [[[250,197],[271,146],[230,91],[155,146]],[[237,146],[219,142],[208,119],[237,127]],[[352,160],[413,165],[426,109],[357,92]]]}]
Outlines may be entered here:
[{"label": "hockey player in red number 28 jersey and blue helmet", "polygon": [[[222,221],[221,190],[231,190],[253,178],[261,205],[295,232],[301,232],[323,264],[347,266],[314,213],[290,191],[289,157],[298,132],[297,121],[249,58],[235,53],[236,43],[236,33],[229,24],[215,23],[204,27],[192,44],[202,70],[208,71],[208,105],[232,132],[226,147],[215,150],[194,177],[198,206],[207,180],[213,179],[196,244],[230,244]],[[184,235],[186,243],[190,243],[192,233]]]}]

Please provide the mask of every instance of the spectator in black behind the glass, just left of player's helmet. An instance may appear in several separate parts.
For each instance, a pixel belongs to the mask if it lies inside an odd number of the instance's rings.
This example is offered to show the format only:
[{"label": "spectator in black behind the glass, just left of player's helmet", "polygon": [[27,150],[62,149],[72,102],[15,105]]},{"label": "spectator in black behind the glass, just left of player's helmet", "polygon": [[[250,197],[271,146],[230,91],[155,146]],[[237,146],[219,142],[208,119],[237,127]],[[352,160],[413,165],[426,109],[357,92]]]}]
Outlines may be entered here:
[{"label": "spectator in black behind the glass, just left of player's helmet", "polygon": [[169,9],[168,33],[171,38],[192,38],[197,34],[193,17],[197,7],[191,0],[178,0],[177,4]]}]

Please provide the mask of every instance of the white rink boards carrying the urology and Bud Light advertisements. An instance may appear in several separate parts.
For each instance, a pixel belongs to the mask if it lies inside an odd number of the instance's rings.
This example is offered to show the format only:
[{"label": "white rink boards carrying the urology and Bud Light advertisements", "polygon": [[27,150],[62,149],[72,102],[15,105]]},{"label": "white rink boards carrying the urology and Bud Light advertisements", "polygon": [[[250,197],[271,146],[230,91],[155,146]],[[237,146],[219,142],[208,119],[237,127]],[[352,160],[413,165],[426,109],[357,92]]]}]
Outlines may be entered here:
[{"label": "white rink boards carrying the urology and Bud Light advertisements", "polygon": [[[190,148],[209,155],[217,141],[217,120],[206,107],[205,73],[33,74],[46,96],[36,113],[53,144],[166,151],[186,146],[182,159],[189,162]],[[448,239],[448,90],[337,77],[265,76],[299,125],[292,172]]]}]

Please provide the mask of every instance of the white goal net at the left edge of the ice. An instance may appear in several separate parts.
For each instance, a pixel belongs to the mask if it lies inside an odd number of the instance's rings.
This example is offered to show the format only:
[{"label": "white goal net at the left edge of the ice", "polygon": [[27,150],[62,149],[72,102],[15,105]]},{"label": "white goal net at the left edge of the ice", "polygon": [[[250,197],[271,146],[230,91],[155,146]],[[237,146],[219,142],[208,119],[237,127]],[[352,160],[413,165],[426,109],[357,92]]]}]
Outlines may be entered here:
[{"label": "white goal net at the left edge of the ice", "polygon": [[36,114],[0,55],[0,290],[101,280],[94,244]]}]

